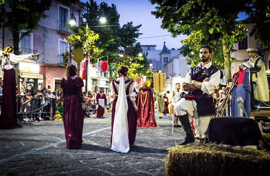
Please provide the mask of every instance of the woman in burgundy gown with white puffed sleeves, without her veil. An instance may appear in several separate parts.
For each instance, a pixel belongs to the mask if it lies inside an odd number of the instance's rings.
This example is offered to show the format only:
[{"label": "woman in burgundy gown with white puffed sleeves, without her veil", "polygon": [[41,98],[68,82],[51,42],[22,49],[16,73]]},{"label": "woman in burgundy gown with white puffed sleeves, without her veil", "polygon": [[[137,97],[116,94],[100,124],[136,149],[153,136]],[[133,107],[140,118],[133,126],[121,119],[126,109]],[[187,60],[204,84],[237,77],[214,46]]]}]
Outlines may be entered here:
[{"label": "woman in burgundy gown with white puffed sleeves, without her veil", "polygon": [[[112,80],[112,83],[110,83],[110,102],[112,102],[112,133],[111,133],[111,146],[112,146],[112,138],[113,138],[113,124],[114,124],[114,117],[116,113],[116,104],[118,99],[118,90],[119,90],[119,83],[120,83],[120,75],[126,77],[127,76],[128,68],[125,66],[121,66],[117,73],[119,74],[118,79]],[[134,92],[134,84],[133,81],[130,79],[124,78],[124,84],[126,89],[126,97],[127,97],[127,124],[128,124],[128,139],[129,139],[129,146],[133,146],[136,138],[136,132],[137,132],[137,116],[135,116],[135,111],[138,111],[137,105],[135,103],[136,100],[136,92]]]}]

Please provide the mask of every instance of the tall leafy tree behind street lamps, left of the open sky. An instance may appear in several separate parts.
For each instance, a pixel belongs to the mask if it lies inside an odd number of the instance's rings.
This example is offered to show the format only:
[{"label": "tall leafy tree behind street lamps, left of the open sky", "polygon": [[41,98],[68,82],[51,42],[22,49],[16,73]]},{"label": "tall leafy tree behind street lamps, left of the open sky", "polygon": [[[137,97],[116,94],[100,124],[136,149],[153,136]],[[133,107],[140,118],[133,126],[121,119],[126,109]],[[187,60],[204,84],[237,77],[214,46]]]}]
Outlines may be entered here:
[{"label": "tall leafy tree behind street lamps, left of the open sky", "polygon": [[[86,21],[80,19],[80,26],[71,27],[71,29],[74,33],[76,33],[77,29],[81,28],[81,26],[86,26],[87,23],[91,30],[93,30],[96,34],[99,34],[99,40],[95,46],[103,50],[101,55],[109,55],[108,71],[110,72],[110,80],[112,80],[112,71],[117,64],[115,61],[120,52],[120,48],[127,48],[136,42],[136,38],[141,35],[141,33],[139,33],[139,28],[141,25],[133,26],[132,22],[128,22],[127,24],[124,24],[122,27],[120,27],[120,15],[117,12],[116,6],[114,4],[109,6],[107,3],[102,2],[97,5],[96,2],[90,0],[89,3],[86,3],[85,9],[86,11],[82,17],[86,19]],[[102,10],[105,12],[107,26],[102,26],[99,22],[99,17]],[[93,63],[97,62],[95,59],[91,61]]]}]

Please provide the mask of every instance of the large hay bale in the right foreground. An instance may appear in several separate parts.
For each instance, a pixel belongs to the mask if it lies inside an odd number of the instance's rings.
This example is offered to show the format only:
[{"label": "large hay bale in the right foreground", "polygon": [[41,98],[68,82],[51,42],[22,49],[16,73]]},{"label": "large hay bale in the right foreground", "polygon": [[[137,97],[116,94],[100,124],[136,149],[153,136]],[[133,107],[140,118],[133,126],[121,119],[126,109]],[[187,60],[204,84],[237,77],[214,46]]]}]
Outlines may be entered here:
[{"label": "large hay bale in the right foreground", "polygon": [[216,144],[170,148],[166,175],[269,175],[270,153]]}]

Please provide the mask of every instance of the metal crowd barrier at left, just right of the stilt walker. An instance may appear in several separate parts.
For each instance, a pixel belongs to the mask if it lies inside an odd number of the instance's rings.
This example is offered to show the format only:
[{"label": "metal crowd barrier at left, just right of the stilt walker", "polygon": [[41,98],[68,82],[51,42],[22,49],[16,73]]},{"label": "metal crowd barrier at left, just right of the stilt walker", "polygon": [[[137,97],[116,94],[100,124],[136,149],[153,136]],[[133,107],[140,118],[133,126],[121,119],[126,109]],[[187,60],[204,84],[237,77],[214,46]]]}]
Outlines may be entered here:
[{"label": "metal crowd barrier at left, just right of the stilt walker", "polygon": [[16,105],[17,114],[22,114],[23,118],[27,118],[29,122],[31,122],[31,118],[39,118],[43,121],[47,117],[52,120],[57,110],[57,100],[46,97],[44,104],[42,104],[40,98],[35,97],[31,98],[28,103],[23,104],[22,98],[18,96]]}]

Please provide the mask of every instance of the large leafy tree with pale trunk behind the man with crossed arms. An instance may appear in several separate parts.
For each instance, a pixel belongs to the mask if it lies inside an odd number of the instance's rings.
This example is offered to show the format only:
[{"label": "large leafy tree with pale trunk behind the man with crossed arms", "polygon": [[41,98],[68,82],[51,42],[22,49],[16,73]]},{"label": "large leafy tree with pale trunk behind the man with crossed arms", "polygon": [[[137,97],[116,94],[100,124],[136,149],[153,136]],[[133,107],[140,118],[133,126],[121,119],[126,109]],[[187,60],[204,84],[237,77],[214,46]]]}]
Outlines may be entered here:
[{"label": "large leafy tree with pale trunk behind the man with crossed arms", "polygon": [[219,42],[221,46],[218,48],[222,47],[224,55],[225,78],[231,78],[231,49],[234,43],[246,36],[244,24],[236,19],[238,13],[245,10],[247,1],[150,0],[150,2],[158,5],[152,14],[156,18],[162,18],[161,27],[168,29],[174,37],[201,31],[203,34],[201,41],[205,42],[201,45]]}]

